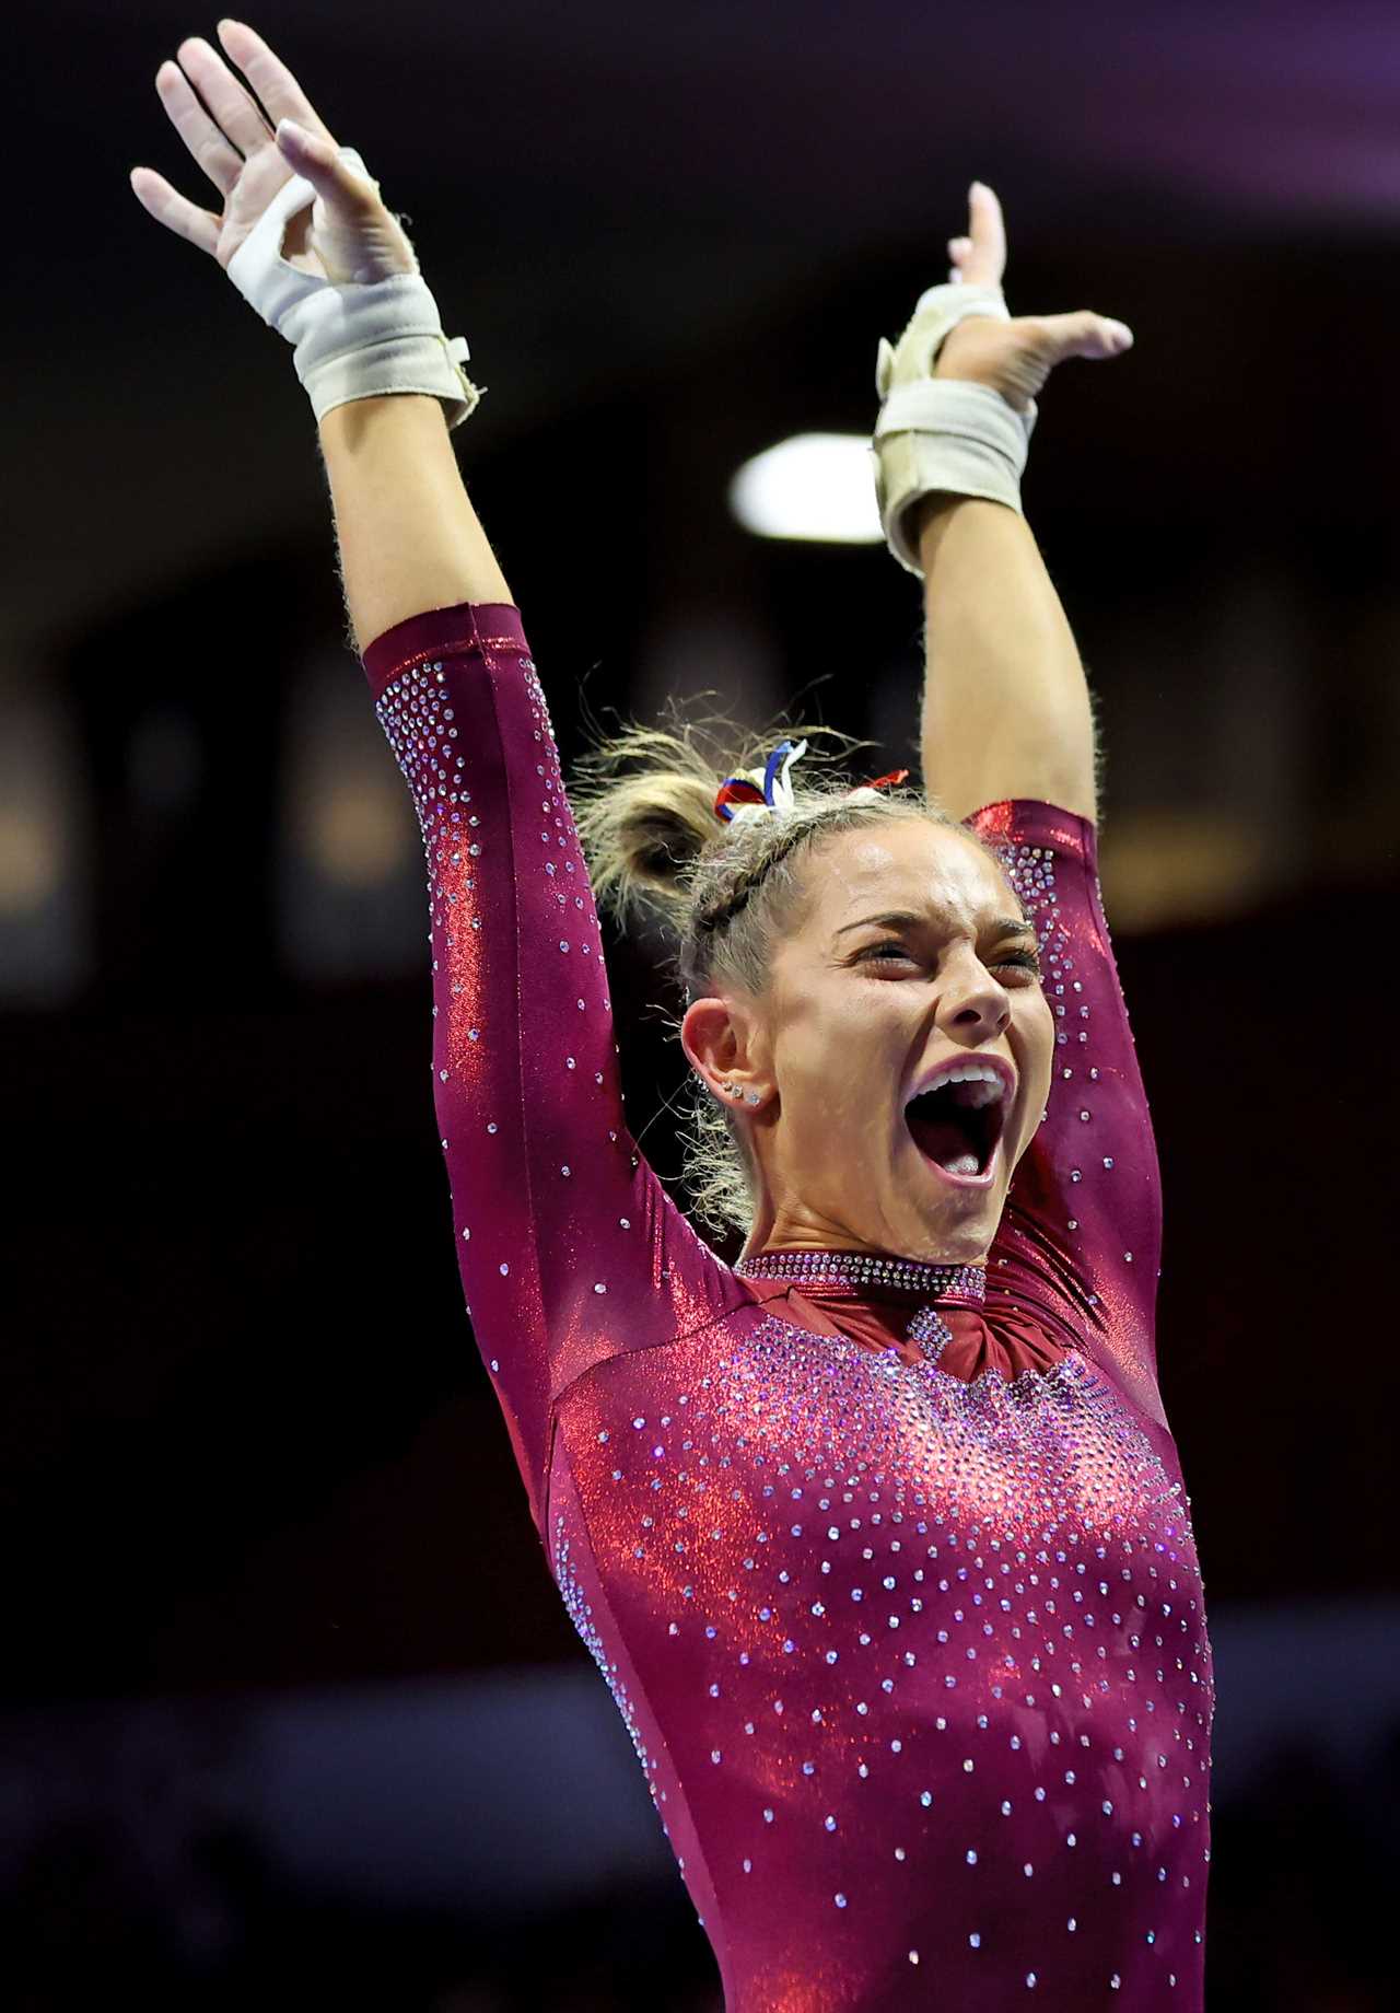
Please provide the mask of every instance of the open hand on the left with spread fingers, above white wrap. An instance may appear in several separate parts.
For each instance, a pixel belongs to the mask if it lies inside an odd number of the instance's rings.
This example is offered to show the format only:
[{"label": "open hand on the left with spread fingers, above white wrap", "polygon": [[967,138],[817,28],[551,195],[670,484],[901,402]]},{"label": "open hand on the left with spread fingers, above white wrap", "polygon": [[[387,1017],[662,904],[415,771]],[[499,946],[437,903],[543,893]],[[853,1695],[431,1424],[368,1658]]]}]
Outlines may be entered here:
[{"label": "open hand on the left with spread fingers, above white wrap", "polygon": [[376,183],[338,159],[330,127],[286,62],[239,20],[221,20],[219,40],[257,97],[243,89],[219,52],[199,36],[179,44],[179,62],[161,64],[155,89],[171,125],[219,191],[223,207],[217,215],[199,209],[153,167],[133,167],[131,187],[141,205],[157,223],[209,252],[227,270],[278,191],[294,175],[304,175],[316,189],[316,201],[288,223],[284,258],[292,266],[336,286],[416,274],[414,250],[380,201]]}]

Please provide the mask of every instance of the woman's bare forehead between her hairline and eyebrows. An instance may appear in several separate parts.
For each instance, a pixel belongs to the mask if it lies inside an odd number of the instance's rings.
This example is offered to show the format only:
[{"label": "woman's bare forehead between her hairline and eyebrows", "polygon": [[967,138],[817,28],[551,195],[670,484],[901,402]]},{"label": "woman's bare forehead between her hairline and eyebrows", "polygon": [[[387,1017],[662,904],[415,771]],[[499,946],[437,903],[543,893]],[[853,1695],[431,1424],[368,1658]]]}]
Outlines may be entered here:
[{"label": "woman's bare forehead between her hairline and eyebrows", "polygon": [[1020,912],[1006,876],[976,839],[925,819],[839,831],[813,864],[809,918],[825,930],[885,908],[927,912],[968,928]]}]

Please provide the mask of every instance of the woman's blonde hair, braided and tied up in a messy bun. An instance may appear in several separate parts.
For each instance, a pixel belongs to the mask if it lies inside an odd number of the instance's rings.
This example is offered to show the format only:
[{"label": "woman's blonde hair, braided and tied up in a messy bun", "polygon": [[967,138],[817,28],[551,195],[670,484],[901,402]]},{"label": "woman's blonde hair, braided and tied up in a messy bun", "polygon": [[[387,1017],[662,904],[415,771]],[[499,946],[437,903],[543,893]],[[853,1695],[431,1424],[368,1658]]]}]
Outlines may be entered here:
[{"label": "woman's blonde hair, braided and tied up in a messy bun", "polygon": [[[714,811],[724,777],[762,769],[774,741],[784,737],[809,741],[801,771],[793,771],[791,811],[724,823]],[[817,747],[819,739],[829,747]],[[961,833],[1002,868],[978,833],[923,791],[857,787],[853,793],[849,779],[823,769],[861,747],[871,743],[821,725],[754,735],[722,715],[688,719],[676,701],[664,727],[626,723],[611,735],[595,731],[569,781],[593,896],[624,928],[640,912],[668,928],[686,1004],[730,988],[752,998],[764,992],[776,942],[801,924],[803,868],[839,831],[923,819]],[[692,1214],[714,1230],[746,1234],[758,1172],[744,1129],[698,1077],[682,1145]]]}]

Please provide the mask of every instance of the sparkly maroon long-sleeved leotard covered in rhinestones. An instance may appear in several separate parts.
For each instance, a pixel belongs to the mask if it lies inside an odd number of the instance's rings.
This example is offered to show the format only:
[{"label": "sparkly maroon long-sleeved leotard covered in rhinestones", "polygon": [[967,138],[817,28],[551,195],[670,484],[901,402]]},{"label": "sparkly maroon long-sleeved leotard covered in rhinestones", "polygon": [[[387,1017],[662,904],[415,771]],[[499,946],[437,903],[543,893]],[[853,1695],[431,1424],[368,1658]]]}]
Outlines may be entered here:
[{"label": "sparkly maroon long-sleeved leotard covered in rhinestones", "polygon": [[1199,2013],[1215,1691],[1092,825],[970,819],[1056,1013],[988,1266],[742,1276],[628,1135],[517,610],[414,616],[364,668],[426,847],[473,1329],[728,2013]]}]

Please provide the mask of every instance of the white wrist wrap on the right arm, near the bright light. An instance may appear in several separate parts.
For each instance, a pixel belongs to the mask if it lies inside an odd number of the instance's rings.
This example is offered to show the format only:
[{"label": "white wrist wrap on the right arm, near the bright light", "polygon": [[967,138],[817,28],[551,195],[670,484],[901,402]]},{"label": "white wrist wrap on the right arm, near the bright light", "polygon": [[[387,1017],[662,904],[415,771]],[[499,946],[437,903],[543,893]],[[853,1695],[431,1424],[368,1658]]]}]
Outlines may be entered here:
[{"label": "white wrist wrap on the right arm, near the bright light", "polygon": [[931,491],[990,497],[1020,511],[1020,479],[1036,427],[1036,403],[1016,413],[990,384],[935,378],[949,332],[968,314],[1010,320],[1000,286],[947,282],[919,296],[897,344],[881,338],[875,391],[881,397],[871,441],[875,501],[899,564],[923,576],[913,507]]}]

